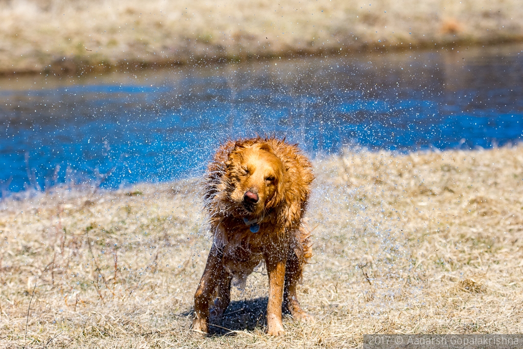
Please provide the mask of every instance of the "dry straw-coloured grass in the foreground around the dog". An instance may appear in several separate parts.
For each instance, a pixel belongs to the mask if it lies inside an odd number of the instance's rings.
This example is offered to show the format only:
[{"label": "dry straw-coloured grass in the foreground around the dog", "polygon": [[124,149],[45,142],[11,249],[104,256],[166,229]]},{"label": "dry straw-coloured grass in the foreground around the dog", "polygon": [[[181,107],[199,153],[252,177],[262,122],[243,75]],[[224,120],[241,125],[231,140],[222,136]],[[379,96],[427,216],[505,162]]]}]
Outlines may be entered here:
[{"label": "dry straw-coloured grass in the foreground around the dog", "polygon": [[1,203],[0,347],[341,348],[376,332],[523,332],[521,146],[346,151],[315,171],[315,256],[299,289],[315,323],[287,317],[286,335],[267,336],[261,270],[213,336],[189,331],[210,247],[195,181],[57,189]]}]

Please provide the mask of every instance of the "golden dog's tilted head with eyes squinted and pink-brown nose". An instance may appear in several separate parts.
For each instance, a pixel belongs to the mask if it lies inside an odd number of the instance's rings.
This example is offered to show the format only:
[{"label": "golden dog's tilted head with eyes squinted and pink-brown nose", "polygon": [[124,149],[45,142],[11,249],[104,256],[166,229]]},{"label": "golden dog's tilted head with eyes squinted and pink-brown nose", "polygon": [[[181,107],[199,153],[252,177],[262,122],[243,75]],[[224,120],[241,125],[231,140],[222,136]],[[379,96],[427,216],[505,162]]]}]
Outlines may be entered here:
[{"label": "golden dog's tilted head with eyes squinted and pink-brown nose", "polygon": [[281,202],[285,167],[268,144],[234,149],[227,165],[229,199],[238,215],[261,218]]}]

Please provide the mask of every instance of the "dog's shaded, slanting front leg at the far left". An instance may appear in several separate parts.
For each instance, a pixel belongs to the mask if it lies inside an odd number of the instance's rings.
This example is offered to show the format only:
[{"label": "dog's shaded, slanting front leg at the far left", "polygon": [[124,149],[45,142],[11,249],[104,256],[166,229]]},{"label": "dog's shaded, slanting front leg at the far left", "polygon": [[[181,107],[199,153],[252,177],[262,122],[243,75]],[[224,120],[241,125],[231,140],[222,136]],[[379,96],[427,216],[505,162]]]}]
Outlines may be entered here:
[{"label": "dog's shaded, slanting front leg at the far left", "polygon": [[192,321],[192,330],[194,331],[209,332],[209,301],[214,295],[214,290],[220,279],[219,276],[223,274],[222,257],[222,252],[213,243],[195,293],[195,319]]}]

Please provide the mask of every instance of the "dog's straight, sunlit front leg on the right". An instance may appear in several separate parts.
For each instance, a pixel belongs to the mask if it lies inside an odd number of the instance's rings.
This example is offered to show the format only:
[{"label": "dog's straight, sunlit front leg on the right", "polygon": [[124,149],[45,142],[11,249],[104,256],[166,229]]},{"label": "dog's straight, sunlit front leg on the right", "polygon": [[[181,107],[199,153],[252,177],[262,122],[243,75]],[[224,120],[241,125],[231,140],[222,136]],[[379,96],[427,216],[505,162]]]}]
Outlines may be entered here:
[{"label": "dog's straight, sunlit front leg on the right", "polygon": [[[276,249],[279,250],[279,249]],[[269,253],[265,258],[269,274],[269,301],[267,303],[267,333],[280,335],[285,332],[281,323],[281,302],[285,283],[285,264],[287,254],[279,251]]]}]

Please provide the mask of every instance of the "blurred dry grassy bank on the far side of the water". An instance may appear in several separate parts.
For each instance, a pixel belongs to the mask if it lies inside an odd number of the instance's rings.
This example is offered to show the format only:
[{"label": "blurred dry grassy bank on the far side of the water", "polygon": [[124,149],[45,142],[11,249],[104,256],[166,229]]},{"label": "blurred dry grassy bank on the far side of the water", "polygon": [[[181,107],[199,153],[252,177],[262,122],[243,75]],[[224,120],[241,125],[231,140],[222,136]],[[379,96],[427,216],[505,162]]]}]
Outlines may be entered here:
[{"label": "blurred dry grassy bank on the far side of the water", "polygon": [[518,0],[0,0],[3,74],[521,39]]}]

